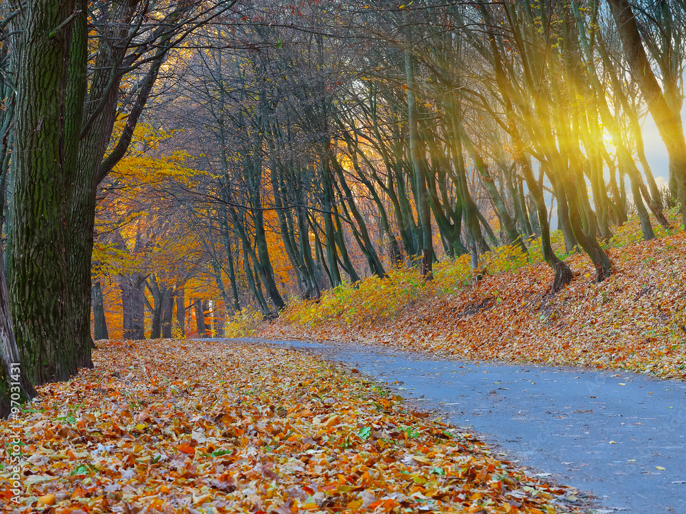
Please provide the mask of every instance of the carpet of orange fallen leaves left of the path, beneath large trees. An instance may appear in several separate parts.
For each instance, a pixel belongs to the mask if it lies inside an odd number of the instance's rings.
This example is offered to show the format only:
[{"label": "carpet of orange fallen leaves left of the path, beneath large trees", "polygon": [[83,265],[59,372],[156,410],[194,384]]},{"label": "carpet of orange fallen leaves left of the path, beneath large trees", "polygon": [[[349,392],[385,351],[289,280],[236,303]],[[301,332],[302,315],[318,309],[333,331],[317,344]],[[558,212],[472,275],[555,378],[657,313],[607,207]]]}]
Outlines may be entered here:
[{"label": "carpet of orange fallen leaves left of the path, beneath large trees", "polygon": [[314,356],[163,340],[94,360],[0,422],[24,454],[17,505],[3,445],[1,511],[577,512],[570,489]]}]

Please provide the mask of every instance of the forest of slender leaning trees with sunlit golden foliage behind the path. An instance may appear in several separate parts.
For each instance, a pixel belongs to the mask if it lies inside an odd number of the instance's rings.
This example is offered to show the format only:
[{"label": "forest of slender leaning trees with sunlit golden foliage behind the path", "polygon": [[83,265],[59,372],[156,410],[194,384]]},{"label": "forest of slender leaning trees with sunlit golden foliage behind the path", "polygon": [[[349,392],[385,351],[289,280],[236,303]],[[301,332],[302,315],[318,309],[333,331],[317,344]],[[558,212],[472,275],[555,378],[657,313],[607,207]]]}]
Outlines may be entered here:
[{"label": "forest of slender leaning trees with sunlit golden foliage behind the path", "polygon": [[[650,240],[683,188],[683,10],[640,7],[196,5],[163,55],[122,48],[134,61],[83,228],[80,358],[91,302],[95,339],[221,335],[246,308],[276,317],[399,267],[430,280],[531,238],[558,291],[556,229],[561,253],[610,276],[612,227],[636,216]],[[657,179],[646,116],[668,156]]]}]

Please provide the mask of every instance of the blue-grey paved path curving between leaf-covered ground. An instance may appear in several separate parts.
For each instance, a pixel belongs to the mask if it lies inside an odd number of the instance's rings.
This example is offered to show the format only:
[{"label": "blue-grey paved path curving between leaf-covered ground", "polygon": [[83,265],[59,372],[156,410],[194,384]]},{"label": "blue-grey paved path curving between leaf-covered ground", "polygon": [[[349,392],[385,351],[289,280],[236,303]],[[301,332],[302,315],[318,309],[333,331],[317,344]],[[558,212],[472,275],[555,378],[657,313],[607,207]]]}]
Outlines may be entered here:
[{"label": "blue-grey paved path curving between leaf-covered ground", "polygon": [[480,433],[522,467],[588,491],[600,513],[686,514],[685,382],[270,342],[306,348],[388,382],[408,400],[438,408],[453,425]]}]

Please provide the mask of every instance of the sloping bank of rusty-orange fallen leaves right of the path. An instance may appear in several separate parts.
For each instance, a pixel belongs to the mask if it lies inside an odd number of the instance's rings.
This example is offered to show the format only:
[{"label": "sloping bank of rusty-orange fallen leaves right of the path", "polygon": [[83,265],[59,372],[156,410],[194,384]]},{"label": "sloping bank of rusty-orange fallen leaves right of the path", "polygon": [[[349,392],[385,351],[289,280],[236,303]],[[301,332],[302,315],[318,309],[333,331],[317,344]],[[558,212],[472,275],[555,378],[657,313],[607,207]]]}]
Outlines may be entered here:
[{"label": "sloping bank of rusty-orange fallen leaves right of the path", "polygon": [[[623,230],[626,237],[637,232]],[[279,320],[263,324],[255,335],[381,343],[442,358],[625,369],[686,379],[686,234],[611,248],[608,254],[615,271],[600,284],[593,282],[585,255],[567,258],[575,278],[555,296],[549,295],[550,269],[537,262],[449,290],[439,278],[390,315],[369,313],[350,323],[341,313],[322,321],[311,306],[307,317],[316,321]]]}]

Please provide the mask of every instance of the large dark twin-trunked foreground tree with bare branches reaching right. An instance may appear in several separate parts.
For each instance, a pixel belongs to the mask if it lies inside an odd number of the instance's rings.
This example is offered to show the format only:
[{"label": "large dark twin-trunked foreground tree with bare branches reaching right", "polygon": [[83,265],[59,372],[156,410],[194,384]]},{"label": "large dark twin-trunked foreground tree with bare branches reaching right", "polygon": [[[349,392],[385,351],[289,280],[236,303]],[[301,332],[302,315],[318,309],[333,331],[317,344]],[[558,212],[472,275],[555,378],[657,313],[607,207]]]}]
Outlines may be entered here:
[{"label": "large dark twin-trunked foreground tree with bare branches reaching right", "polygon": [[[34,383],[91,365],[97,185],[126,154],[171,49],[230,5],[78,0],[18,9],[8,274]],[[105,157],[122,111],[126,123]]]}]

